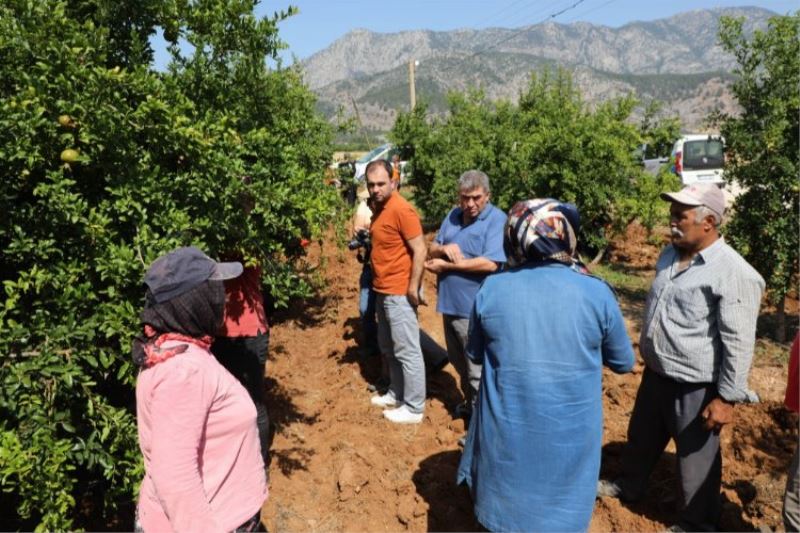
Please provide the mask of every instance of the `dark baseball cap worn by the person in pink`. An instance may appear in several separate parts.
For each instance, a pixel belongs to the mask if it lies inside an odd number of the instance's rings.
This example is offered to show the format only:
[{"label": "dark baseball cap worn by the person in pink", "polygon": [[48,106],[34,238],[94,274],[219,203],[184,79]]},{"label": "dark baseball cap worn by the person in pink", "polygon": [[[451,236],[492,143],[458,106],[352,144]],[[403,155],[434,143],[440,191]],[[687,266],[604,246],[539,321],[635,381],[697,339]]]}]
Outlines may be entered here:
[{"label": "dark baseball cap worn by the person in pink", "polygon": [[239,277],[241,263],[217,263],[198,248],[186,246],[162,255],[150,265],[144,282],[157,303],[166,302],[207,280]]}]

